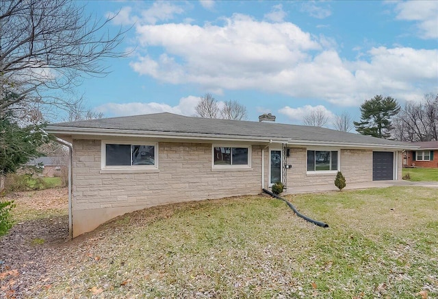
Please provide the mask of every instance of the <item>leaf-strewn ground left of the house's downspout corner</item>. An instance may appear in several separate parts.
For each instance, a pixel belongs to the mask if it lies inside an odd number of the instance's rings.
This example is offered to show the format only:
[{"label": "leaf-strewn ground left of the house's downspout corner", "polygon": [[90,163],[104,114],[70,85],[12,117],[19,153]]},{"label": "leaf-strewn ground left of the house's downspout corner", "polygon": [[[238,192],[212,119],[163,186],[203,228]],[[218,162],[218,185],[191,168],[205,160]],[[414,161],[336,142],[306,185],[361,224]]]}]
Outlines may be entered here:
[{"label": "leaf-strewn ground left of the house's downspout corner", "polygon": [[17,223],[0,239],[0,298],[27,298],[36,286],[49,285],[68,241],[67,190],[12,193],[2,200],[14,200]]}]

